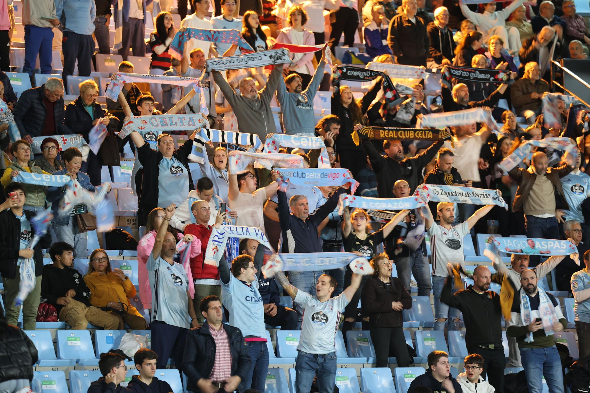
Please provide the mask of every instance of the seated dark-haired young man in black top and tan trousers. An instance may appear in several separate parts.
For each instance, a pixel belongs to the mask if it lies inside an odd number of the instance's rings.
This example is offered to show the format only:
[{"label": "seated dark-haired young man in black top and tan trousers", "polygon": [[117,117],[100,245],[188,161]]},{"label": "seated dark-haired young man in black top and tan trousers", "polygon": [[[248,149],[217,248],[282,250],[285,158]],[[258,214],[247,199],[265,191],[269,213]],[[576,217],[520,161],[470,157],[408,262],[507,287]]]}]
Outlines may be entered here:
[{"label": "seated dark-haired young man in black top and tan trousers", "polygon": [[60,320],[71,329],[86,329],[89,322],[104,329],[117,329],[116,316],[90,305],[90,290],[83,275],[72,267],[74,247],[58,241],[51,245],[49,254],[53,264],[43,267],[41,298],[53,304]]}]

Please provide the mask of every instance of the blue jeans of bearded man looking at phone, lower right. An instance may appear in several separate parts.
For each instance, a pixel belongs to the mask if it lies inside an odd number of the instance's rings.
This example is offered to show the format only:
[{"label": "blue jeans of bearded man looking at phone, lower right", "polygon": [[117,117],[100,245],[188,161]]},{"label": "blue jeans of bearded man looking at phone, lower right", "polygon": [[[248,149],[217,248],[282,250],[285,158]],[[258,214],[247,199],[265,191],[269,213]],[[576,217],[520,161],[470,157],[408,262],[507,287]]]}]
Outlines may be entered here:
[{"label": "blue jeans of bearded man looking at phone, lower right", "polygon": [[563,370],[555,345],[549,348],[520,348],[520,359],[525,368],[529,393],[542,393],[543,376],[549,393],[563,393]]}]

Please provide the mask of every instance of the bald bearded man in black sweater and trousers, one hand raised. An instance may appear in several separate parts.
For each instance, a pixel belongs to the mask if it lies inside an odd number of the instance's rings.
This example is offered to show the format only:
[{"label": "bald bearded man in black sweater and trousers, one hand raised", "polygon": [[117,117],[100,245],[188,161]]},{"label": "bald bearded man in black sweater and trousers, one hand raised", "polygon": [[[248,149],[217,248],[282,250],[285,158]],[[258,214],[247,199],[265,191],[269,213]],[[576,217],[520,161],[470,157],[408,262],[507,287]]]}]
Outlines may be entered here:
[{"label": "bald bearded man in black sweater and trousers, one hand raised", "polygon": [[477,266],[473,271],[473,285],[451,294],[453,271],[447,265],[448,278],[441,292],[441,302],[463,313],[467,352],[477,353],[484,359],[481,376],[489,372],[490,385],[496,392],[504,391],[504,348],[502,346],[502,310],[500,295],[489,291],[491,273],[486,266]]}]

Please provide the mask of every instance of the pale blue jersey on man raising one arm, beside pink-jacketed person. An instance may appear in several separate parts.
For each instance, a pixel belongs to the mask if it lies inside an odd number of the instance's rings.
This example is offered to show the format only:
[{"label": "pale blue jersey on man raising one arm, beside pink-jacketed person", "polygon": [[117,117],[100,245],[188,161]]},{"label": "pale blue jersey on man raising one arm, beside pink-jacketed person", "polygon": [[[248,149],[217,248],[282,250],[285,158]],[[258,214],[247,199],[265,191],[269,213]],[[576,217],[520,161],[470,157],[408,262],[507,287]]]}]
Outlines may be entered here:
[{"label": "pale blue jersey on man raising one arm, beside pink-jacketed person", "polygon": [[148,273],[152,289],[152,320],[189,329],[188,276],[182,265],[176,262],[171,265],[162,257],[154,260],[150,253]]}]

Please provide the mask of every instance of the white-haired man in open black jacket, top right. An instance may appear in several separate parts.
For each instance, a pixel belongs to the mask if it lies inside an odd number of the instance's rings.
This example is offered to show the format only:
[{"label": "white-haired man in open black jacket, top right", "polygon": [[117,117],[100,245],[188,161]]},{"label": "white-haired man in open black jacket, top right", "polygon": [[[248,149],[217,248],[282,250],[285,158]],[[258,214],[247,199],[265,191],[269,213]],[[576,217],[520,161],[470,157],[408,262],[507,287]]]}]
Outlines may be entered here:
[{"label": "white-haired man in open black jacket, top right", "polygon": [[449,13],[447,7],[441,6],[434,10],[434,22],[426,27],[430,38],[430,56],[427,66],[435,68],[451,66],[455,53],[455,41],[453,32],[448,25]]}]

